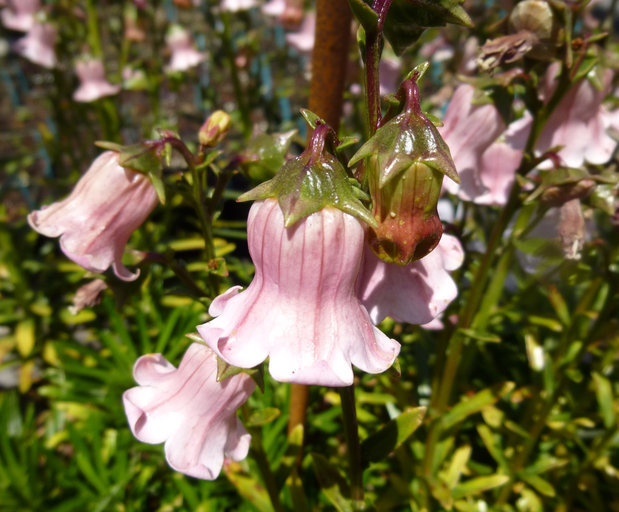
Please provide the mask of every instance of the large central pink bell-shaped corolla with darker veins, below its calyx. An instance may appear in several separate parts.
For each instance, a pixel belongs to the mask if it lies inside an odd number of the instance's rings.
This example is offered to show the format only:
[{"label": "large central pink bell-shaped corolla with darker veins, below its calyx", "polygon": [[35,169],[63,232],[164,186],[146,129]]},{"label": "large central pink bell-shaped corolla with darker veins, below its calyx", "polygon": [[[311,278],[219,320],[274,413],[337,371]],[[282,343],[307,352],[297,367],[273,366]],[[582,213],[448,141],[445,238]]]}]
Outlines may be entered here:
[{"label": "large central pink bell-shaped corolla with darker veins, below its calyx", "polygon": [[400,345],[372,325],[355,284],[364,231],[351,215],[322,209],[289,228],[274,199],[254,203],[247,226],[256,274],[233,287],[198,326],[206,343],[229,364],[251,368],[269,358],[282,382],[348,386],[351,364],[385,371]]}]

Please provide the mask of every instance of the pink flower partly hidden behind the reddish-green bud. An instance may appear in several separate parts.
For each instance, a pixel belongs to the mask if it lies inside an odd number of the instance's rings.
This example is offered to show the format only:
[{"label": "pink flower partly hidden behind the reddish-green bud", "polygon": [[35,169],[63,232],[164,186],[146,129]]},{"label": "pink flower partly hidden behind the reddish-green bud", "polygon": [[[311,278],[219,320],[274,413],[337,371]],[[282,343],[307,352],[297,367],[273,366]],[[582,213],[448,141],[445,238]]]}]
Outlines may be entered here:
[{"label": "pink flower partly hidden behind the reddish-green bud", "polygon": [[398,322],[427,324],[458,295],[449,275],[462,265],[458,239],[443,235],[430,254],[400,266],[386,263],[365,249],[357,292],[375,324],[391,317]]}]

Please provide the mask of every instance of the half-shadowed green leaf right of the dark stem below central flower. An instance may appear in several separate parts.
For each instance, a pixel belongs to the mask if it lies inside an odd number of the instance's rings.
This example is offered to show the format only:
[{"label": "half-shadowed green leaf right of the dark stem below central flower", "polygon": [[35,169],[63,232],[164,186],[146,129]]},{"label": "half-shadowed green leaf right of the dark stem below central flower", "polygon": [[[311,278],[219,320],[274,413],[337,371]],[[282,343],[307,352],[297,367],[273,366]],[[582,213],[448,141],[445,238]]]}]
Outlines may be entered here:
[{"label": "half-shadowed green leaf right of the dark stem below central flower", "polygon": [[425,407],[407,409],[366,438],[361,443],[361,460],[364,464],[381,461],[401,446],[421,425],[425,414]]}]

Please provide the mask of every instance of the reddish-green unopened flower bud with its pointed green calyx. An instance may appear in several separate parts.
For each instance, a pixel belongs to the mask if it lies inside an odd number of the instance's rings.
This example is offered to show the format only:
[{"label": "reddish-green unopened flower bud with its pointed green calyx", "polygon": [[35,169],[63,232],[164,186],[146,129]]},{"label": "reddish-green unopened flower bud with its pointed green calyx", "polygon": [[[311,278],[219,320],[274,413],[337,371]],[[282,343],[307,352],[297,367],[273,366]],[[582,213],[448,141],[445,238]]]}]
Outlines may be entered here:
[{"label": "reddish-green unopened flower bud with its pointed green calyx", "polygon": [[436,204],[443,175],[459,182],[447,144],[421,112],[414,79],[405,81],[402,113],[380,127],[353,156],[362,158],[378,227],[368,234],[379,258],[406,265],[436,247],[442,234]]}]

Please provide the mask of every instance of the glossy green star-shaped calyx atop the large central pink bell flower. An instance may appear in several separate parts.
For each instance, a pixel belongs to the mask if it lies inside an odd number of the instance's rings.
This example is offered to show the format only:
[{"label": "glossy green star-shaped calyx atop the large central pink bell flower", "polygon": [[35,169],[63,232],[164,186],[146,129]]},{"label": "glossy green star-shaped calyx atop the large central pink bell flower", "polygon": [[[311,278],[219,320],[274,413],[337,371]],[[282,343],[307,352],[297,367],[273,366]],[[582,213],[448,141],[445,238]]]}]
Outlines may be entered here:
[{"label": "glossy green star-shaped calyx atop the large central pink bell flower", "polygon": [[276,198],[286,227],[327,207],[376,227],[376,221],[359,200],[363,192],[326,150],[328,138],[336,140],[333,130],[327,124],[318,124],[301,155],[286,162],[272,179],[241,195],[238,201]]}]

